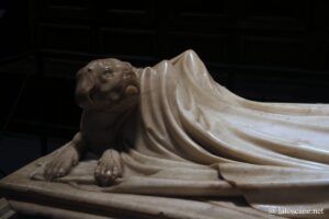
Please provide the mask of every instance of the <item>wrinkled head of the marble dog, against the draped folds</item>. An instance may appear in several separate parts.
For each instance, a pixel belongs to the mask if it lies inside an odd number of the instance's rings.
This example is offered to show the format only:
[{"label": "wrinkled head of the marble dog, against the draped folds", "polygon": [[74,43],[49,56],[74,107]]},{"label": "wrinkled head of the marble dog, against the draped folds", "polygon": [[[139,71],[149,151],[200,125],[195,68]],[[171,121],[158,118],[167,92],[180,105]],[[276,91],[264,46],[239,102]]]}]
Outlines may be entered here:
[{"label": "wrinkled head of the marble dog, against the draped folds", "polygon": [[76,100],[82,108],[116,108],[138,94],[138,76],[128,62],[98,59],[77,73]]}]

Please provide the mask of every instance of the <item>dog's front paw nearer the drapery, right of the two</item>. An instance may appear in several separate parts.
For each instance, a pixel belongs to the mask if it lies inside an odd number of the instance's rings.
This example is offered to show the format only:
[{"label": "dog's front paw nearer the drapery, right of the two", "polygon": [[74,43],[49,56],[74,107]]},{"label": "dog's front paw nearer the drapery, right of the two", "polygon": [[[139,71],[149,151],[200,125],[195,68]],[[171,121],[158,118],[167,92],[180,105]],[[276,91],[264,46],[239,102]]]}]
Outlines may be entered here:
[{"label": "dog's front paw nearer the drapery, right of the two", "polygon": [[106,150],[99,160],[94,171],[94,177],[100,186],[109,186],[115,180],[123,176],[123,166],[120,153],[115,150]]}]

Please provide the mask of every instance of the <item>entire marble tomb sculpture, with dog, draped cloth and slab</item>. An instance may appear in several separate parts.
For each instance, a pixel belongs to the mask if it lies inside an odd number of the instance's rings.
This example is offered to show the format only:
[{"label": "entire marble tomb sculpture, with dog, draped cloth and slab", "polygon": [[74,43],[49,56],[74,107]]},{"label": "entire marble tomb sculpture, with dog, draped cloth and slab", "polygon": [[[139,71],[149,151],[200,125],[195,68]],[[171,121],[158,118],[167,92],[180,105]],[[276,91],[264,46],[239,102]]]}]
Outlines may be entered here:
[{"label": "entire marble tomb sculpture, with dog, draped cloth and slab", "polygon": [[16,210],[329,218],[329,105],[237,96],[193,50],[143,69],[94,60],[78,72],[76,95],[83,113],[73,139],[0,183]]}]

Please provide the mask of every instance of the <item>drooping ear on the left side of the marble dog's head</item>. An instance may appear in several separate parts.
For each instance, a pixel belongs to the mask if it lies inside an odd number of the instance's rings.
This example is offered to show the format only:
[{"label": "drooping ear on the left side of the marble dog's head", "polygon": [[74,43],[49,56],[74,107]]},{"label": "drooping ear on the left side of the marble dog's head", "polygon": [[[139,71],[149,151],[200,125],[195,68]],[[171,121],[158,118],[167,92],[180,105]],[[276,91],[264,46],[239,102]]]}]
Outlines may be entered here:
[{"label": "drooping ear on the left side of the marble dog's head", "polygon": [[94,87],[92,76],[86,71],[86,68],[80,69],[77,72],[77,87],[76,87],[76,102],[77,104],[86,108],[92,104],[90,99],[90,91]]}]

